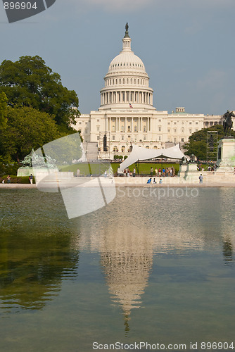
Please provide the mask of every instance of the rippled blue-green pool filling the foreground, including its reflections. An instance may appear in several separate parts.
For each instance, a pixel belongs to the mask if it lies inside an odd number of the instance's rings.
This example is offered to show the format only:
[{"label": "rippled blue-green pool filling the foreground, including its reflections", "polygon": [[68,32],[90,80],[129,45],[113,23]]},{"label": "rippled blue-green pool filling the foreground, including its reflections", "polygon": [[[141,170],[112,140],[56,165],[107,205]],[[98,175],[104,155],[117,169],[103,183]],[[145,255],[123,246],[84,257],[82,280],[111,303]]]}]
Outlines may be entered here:
[{"label": "rippled blue-green pool filling the foreground, including its reflections", "polygon": [[72,220],[60,194],[1,190],[0,351],[234,341],[235,189],[183,190]]}]

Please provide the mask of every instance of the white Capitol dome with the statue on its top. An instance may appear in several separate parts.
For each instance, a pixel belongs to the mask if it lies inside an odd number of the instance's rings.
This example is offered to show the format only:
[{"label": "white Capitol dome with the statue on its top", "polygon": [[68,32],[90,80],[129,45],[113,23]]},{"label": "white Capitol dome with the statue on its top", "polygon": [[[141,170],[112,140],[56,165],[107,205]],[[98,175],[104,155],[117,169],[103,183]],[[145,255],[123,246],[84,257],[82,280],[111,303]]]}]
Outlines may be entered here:
[{"label": "white Capitol dome with the statue on its top", "polygon": [[131,49],[128,24],[122,39],[122,51],[111,61],[101,89],[99,110],[153,108],[153,89],[148,87],[149,77],[144,63]]}]

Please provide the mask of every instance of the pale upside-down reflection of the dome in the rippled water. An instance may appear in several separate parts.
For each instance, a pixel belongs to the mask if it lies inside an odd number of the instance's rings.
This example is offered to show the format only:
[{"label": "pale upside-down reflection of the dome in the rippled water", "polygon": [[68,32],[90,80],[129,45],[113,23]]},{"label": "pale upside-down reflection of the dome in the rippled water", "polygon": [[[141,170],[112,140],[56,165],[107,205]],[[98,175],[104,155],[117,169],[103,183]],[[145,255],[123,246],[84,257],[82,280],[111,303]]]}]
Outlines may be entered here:
[{"label": "pale upside-down reflection of the dome in the rippled water", "polygon": [[105,234],[101,264],[112,301],[120,304],[126,316],[140,307],[152,261],[153,243],[144,231],[132,226]]}]

